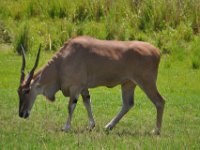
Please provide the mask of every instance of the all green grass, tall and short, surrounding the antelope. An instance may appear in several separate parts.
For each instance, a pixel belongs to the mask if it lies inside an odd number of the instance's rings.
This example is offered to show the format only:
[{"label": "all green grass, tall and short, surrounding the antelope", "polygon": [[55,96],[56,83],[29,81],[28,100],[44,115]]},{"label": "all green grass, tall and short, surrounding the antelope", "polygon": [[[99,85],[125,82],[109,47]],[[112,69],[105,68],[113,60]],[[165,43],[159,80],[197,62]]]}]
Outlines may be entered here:
[{"label": "all green grass, tall and short, surrounding the antelope", "polygon": [[[199,0],[0,0],[0,149],[199,149],[199,10]],[[103,127],[120,110],[119,86],[91,90],[97,123],[92,132],[86,130],[81,98],[72,131],[60,132],[68,102],[61,93],[54,104],[39,96],[30,119],[18,117],[20,45],[28,52],[30,69],[39,43],[42,66],[77,35],[142,40],[161,49],[158,88],[166,99],[162,136],[149,134],[156,112],[139,88],[135,107],[109,134]]]}]

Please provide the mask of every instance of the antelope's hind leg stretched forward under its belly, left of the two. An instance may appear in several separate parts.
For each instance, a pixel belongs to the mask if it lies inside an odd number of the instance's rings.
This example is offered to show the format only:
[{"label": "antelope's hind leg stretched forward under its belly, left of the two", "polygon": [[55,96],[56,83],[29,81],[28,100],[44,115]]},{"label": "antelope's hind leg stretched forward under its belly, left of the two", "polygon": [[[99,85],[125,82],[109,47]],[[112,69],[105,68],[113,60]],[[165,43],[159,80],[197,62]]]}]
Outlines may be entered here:
[{"label": "antelope's hind leg stretched forward under its belly, left of the two", "polygon": [[114,117],[106,126],[106,130],[111,130],[120,119],[130,110],[134,105],[134,90],[136,85],[127,81],[121,85],[122,90],[122,108],[121,111]]}]

